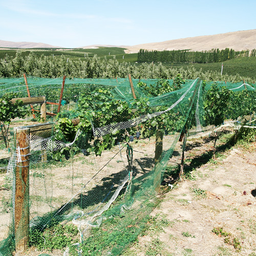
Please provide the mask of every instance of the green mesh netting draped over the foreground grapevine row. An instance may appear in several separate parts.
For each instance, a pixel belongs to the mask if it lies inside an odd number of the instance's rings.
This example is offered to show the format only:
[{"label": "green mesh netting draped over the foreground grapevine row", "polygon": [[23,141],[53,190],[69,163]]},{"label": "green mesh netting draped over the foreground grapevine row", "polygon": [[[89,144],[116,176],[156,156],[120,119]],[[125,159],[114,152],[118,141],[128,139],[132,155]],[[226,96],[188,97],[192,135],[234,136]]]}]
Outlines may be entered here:
[{"label": "green mesh netting draped over the foreground grapevine row", "polygon": [[[125,102],[131,111],[121,112],[122,116],[112,117],[103,126],[99,126],[99,120],[90,119],[91,139],[88,139],[89,135],[84,130],[77,129],[72,141],[58,140],[54,123],[47,133],[31,132],[27,136],[30,148],[30,198],[27,207],[30,212],[31,233],[35,230],[44,232],[56,223],[63,226],[68,222],[73,223],[79,231],[78,241],[72,241],[66,253],[70,251],[74,255],[90,255],[90,244],[96,239],[97,232],[100,236],[105,236],[105,242],[95,249],[95,255],[118,255],[134,241],[155,206],[158,186],[166,167],[171,165],[170,158],[174,150],[182,149],[180,135],[187,131],[201,132],[205,126],[203,92],[210,88],[210,83],[205,84],[199,78],[186,80],[181,89],[155,97],[139,86],[143,82],[146,86],[152,84],[154,88],[157,87],[157,81],[132,80],[137,99],[148,99],[148,108],[140,112],[140,105],[134,104],[128,78],[66,79],[59,114],[62,118],[81,118],[81,95],[90,93],[93,93],[91,101],[97,104],[97,108],[88,106],[87,113],[102,111],[101,104],[105,107],[104,103],[113,99],[119,100],[119,103]],[[62,82],[62,78],[28,78],[30,95],[46,96],[47,101],[58,103]],[[173,80],[168,82],[172,84]],[[256,88],[255,84],[246,82],[216,84],[233,92],[244,89],[254,91]],[[108,93],[104,101],[99,102],[97,94],[103,90]],[[17,97],[27,97],[24,80],[0,79],[0,96],[7,92],[15,92]],[[112,113],[116,107],[110,106],[112,109],[109,113]],[[47,112],[56,113],[56,106],[48,105]],[[155,161],[155,137],[159,129],[154,122],[161,123],[165,135],[158,161]],[[151,129],[149,136],[144,137],[145,127],[152,128],[148,128]],[[114,138],[117,133],[118,137]],[[128,136],[129,143],[125,141],[125,136]],[[89,144],[96,145],[112,139],[115,139],[112,147],[102,154],[96,156],[89,150]],[[20,148],[12,148],[7,171],[7,181],[10,184],[15,184],[15,169],[21,162],[20,152]],[[15,244],[15,185],[12,188],[12,194],[9,195],[9,222],[0,227],[1,238],[5,239],[0,245],[0,255],[11,255]],[[97,229],[100,225],[104,227],[105,233]],[[9,228],[8,232],[6,226]]]}]

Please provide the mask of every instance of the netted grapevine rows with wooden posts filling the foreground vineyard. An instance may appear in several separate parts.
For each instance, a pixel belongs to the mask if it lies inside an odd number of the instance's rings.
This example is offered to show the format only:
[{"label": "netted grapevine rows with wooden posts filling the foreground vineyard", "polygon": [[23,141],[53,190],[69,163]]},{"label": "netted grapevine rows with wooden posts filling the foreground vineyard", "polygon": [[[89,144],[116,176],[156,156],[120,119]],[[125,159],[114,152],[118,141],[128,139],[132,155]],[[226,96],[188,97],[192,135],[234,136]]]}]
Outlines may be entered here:
[{"label": "netted grapevine rows with wooden posts filling the foreground vineyard", "polygon": [[[24,61],[14,71],[15,61],[8,72],[17,75],[32,65]],[[99,72],[90,61],[80,65]],[[69,62],[63,63],[61,72],[69,73]],[[0,255],[28,248],[121,255],[150,222],[160,191],[189,175],[189,136],[211,133],[212,158],[221,125],[234,131],[232,143],[256,139],[255,83],[180,73],[173,79],[99,79],[96,73],[0,79]],[[181,156],[178,169],[175,154]]]}]

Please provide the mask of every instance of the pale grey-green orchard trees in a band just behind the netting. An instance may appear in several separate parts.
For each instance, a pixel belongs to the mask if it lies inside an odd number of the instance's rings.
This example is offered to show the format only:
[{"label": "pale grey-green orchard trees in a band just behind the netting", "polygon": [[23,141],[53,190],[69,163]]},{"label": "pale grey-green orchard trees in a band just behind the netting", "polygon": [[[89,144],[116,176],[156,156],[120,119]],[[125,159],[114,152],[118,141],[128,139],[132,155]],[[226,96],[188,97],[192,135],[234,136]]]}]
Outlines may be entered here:
[{"label": "pale grey-green orchard trees in a band just behind the netting", "polygon": [[56,78],[66,75],[75,78],[126,78],[131,74],[134,78],[163,78],[173,79],[181,74],[186,79],[196,79],[200,77],[208,81],[230,81],[240,82],[245,79],[254,83],[251,78],[240,75],[221,75],[217,71],[202,71],[195,67],[173,68],[165,67],[162,63],[129,63],[118,62],[115,56],[111,59],[100,59],[97,55],[86,56],[83,60],[69,60],[65,56],[36,56],[31,52],[23,57],[17,51],[15,57],[6,55],[0,59],[0,77],[21,77],[26,73],[28,76]]}]

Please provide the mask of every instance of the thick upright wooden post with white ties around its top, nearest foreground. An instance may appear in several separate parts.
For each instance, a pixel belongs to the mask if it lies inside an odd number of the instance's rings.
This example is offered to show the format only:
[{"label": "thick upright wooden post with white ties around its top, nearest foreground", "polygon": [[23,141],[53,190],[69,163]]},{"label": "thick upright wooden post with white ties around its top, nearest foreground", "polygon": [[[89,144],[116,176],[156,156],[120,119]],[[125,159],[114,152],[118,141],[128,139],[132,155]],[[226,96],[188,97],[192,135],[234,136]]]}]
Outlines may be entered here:
[{"label": "thick upright wooden post with white ties around its top, nearest foreground", "polygon": [[16,170],[14,235],[16,251],[28,249],[29,242],[29,128],[15,130]]}]

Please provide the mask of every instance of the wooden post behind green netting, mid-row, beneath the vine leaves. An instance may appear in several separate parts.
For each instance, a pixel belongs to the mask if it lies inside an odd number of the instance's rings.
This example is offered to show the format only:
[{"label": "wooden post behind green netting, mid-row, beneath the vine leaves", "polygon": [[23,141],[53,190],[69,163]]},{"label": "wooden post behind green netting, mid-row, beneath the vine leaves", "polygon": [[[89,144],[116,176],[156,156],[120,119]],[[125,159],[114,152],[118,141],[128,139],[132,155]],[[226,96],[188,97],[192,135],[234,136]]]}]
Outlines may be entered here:
[{"label": "wooden post behind green netting, mid-row, beneath the vine leaves", "polygon": [[157,193],[160,192],[161,186],[161,165],[158,165],[160,157],[163,153],[163,132],[157,130],[156,133],[156,149],[155,149],[155,177],[154,177],[154,187],[156,188]]}]

